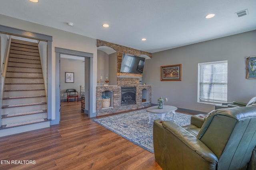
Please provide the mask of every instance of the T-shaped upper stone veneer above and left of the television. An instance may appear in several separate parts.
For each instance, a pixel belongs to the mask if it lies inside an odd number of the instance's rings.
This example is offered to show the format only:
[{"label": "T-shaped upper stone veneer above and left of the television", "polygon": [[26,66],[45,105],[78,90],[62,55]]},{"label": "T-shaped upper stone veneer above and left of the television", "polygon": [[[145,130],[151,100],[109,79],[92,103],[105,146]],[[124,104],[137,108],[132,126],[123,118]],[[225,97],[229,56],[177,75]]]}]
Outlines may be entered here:
[{"label": "T-shaped upper stone veneer above and left of the television", "polygon": [[148,53],[148,52],[145,52],[145,51],[132,49],[132,48],[125,47],[125,46],[122,46],[122,45],[118,45],[118,44],[114,44],[114,43],[109,43],[107,41],[102,41],[102,40],[97,39],[97,47],[102,47],[102,46],[110,47],[110,48],[112,48],[112,49],[114,49],[116,51],[116,55],[117,55],[117,72],[120,72],[120,69],[121,69],[123,53],[130,54],[130,55],[135,55],[135,56],[147,55],[148,57],[152,58],[152,53]]}]

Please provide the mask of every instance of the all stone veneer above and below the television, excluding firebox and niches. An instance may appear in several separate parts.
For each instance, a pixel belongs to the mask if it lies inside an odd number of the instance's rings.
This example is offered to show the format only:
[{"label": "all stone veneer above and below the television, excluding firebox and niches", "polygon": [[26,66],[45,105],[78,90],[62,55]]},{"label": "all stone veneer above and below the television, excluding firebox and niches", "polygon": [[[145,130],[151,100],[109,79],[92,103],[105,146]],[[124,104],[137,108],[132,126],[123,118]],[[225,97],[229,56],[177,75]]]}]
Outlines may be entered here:
[{"label": "all stone veneer above and below the television, excluding firebox and niches", "polygon": [[[109,42],[97,39],[97,47],[102,47],[102,46],[110,47],[116,51],[117,73],[120,73],[123,53],[135,55],[135,56],[147,55],[148,57],[152,58],[152,53],[132,49],[122,45],[109,43]],[[134,74],[131,74],[131,75],[135,77],[141,76],[140,74],[137,74],[138,76]],[[129,76],[129,77],[117,77],[117,86],[97,86],[97,92],[96,92],[97,116],[149,107],[151,105],[151,86],[139,85],[139,84],[140,84],[139,78],[131,78]],[[136,104],[121,106],[121,87],[127,87],[127,86],[136,86]],[[142,102],[142,90],[144,89],[146,89],[146,92],[148,92],[148,99],[146,102]],[[111,102],[111,106],[108,108],[102,108],[101,96],[102,96],[102,92],[105,92],[105,91],[112,92],[112,98],[111,98],[112,102]]]}]

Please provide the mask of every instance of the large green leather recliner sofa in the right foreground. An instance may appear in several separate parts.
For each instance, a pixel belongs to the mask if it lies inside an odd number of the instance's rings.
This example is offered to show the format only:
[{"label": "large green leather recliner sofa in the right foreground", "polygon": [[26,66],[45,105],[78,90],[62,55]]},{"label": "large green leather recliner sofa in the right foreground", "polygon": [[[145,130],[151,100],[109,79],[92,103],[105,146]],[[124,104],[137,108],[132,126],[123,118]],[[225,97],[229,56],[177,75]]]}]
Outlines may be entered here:
[{"label": "large green leather recliner sofa in the right foreground", "polygon": [[154,121],[154,154],[163,170],[255,170],[255,106],[217,109],[203,121],[202,127]]}]

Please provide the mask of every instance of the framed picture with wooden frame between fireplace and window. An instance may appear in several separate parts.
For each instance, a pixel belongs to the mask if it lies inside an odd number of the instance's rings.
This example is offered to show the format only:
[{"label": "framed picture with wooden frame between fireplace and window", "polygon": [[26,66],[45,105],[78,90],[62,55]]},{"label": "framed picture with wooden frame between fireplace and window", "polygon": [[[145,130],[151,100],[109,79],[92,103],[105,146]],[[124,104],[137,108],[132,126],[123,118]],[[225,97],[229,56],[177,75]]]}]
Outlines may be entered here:
[{"label": "framed picture with wooden frame between fireplace and window", "polygon": [[181,64],[161,66],[161,81],[181,81]]}]

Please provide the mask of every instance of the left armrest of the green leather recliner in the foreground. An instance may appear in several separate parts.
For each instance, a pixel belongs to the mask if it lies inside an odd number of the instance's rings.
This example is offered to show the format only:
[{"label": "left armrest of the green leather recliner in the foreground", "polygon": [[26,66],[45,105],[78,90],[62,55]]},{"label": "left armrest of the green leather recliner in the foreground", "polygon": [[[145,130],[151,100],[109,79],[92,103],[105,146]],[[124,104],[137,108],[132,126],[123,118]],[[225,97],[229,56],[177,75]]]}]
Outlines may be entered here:
[{"label": "left armrest of the green leather recliner in the foreground", "polygon": [[218,158],[196,136],[172,121],[160,122],[154,121],[153,141],[155,158],[163,169],[216,169]]}]

